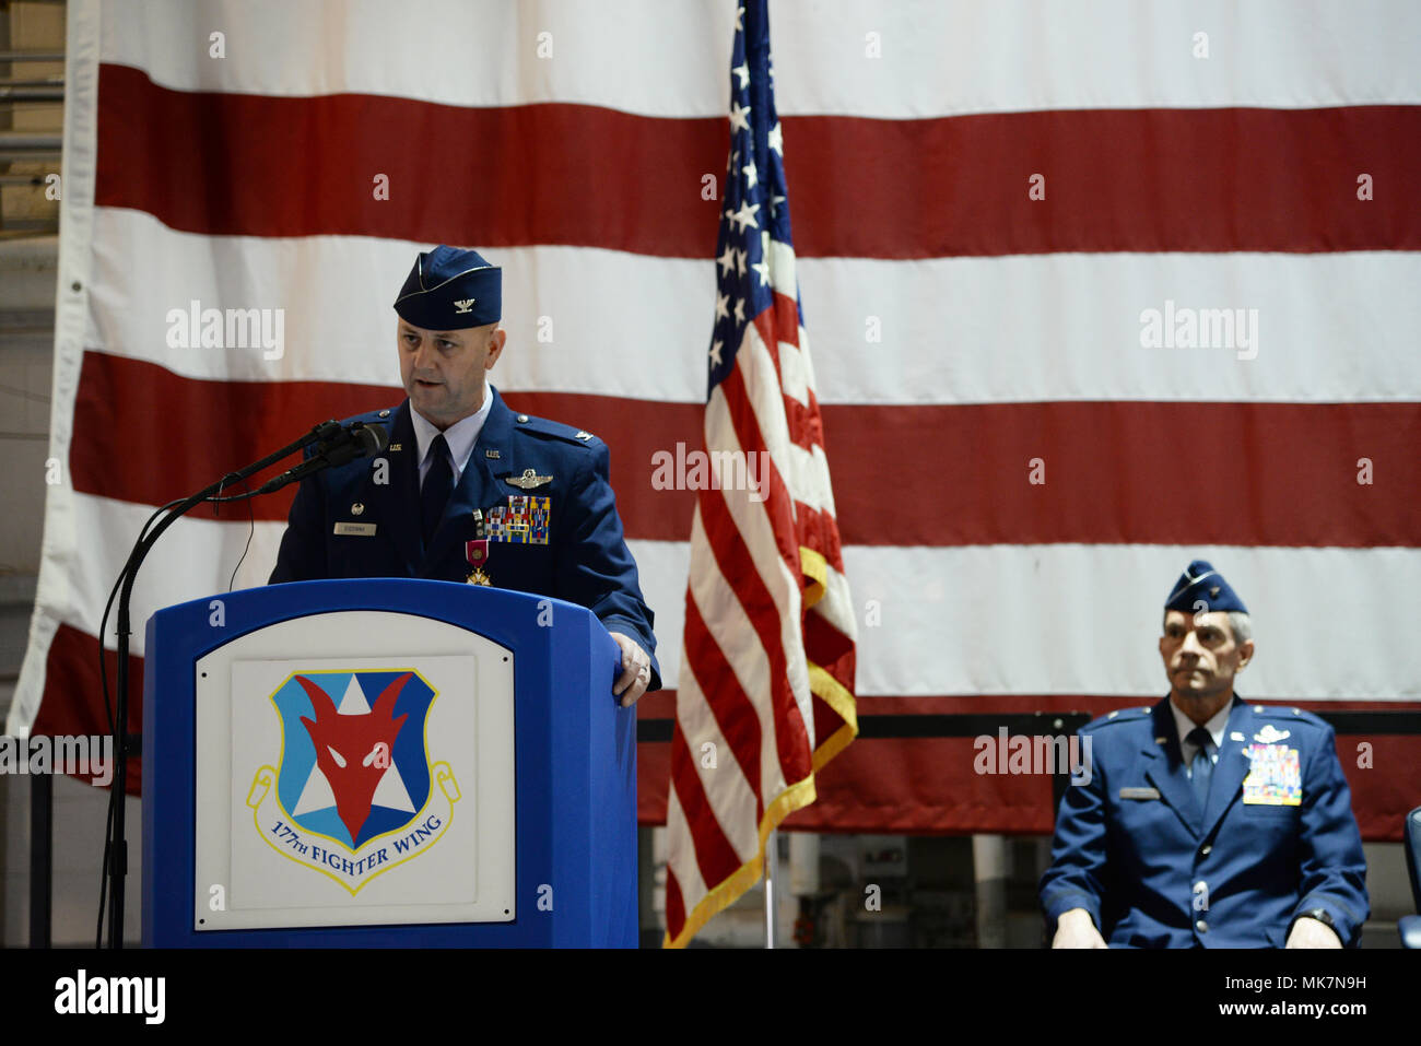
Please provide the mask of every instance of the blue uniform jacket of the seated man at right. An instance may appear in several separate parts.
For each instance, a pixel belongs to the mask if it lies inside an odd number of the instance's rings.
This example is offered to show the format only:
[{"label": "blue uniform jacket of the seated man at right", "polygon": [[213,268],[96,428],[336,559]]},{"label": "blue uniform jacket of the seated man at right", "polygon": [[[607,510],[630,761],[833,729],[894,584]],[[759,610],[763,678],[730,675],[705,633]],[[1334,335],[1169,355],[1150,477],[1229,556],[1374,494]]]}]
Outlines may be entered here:
[{"label": "blue uniform jacket of the seated man at right", "polygon": [[[1111,712],[1080,738],[1083,750],[1090,740],[1090,782],[1066,790],[1040,883],[1050,932],[1084,908],[1111,947],[1282,948],[1293,920],[1320,908],[1341,942],[1356,944],[1370,914],[1367,866],[1322,719],[1235,696],[1205,810],[1168,698]],[[1245,779],[1269,745],[1296,752],[1296,804],[1245,802],[1259,797]]]}]

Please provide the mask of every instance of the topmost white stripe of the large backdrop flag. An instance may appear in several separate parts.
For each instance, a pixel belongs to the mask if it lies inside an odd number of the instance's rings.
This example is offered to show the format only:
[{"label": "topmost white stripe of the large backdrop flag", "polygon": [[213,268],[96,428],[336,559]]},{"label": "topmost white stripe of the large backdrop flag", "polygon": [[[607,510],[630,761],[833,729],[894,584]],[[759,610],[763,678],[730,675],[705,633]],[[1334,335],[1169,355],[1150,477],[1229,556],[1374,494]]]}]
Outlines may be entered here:
[{"label": "topmost white stripe of the large backdrop flag", "polygon": [[[736,6],[722,0],[422,0],[408,17],[389,17],[385,0],[350,0],[338,17],[323,4],[286,0],[240,7],[234,18],[236,9],[192,0],[105,3],[104,61],[148,70],[183,91],[725,115]],[[1405,0],[786,0],[770,11],[780,115],[1421,101],[1421,7]],[[1326,54],[1280,30],[1303,17],[1307,33],[1327,41]],[[242,31],[229,30],[217,61],[207,37],[225,23]],[[1201,30],[1208,58],[1195,57]],[[500,60],[470,61],[470,48]],[[341,61],[311,61],[333,53]]]}]

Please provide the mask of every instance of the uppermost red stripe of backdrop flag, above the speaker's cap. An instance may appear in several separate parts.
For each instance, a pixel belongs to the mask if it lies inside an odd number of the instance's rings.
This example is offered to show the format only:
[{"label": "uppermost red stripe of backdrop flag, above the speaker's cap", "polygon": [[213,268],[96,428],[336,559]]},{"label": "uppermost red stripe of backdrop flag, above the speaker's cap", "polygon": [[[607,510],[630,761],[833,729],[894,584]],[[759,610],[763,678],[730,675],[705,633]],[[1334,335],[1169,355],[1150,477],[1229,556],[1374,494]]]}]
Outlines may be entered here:
[{"label": "uppermost red stripe of backdrop flag, above the speaker's cap", "polygon": [[[782,124],[800,257],[1421,249],[1407,193],[1356,195],[1358,172],[1404,186],[1421,169],[1415,105]],[[252,128],[260,148],[232,163],[225,144],[247,141]],[[460,178],[429,178],[431,141]],[[185,92],[99,65],[95,203],[188,232],[706,257],[719,200],[685,186],[723,168],[723,117]],[[655,222],[604,206],[627,171],[655,172],[637,190],[637,213]],[[374,198],[377,173],[389,176],[388,200]],[[1046,178],[1044,200],[1027,198],[1033,173]]]}]

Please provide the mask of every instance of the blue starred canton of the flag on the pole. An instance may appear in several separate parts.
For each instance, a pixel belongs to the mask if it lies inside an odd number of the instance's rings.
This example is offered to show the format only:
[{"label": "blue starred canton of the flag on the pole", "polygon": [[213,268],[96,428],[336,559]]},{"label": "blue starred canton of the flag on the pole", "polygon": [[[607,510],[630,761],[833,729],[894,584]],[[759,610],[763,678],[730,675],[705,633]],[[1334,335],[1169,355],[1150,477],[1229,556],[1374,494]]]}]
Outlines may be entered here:
[{"label": "blue starred canton of the flag on the pole", "polygon": [[730,57],[730,161],[723,199],[708,397],[735,367],[746,324],[774,301],[770,239],[786,246],[793,243],[784,190],[784,141],[774,112],[766,0],[749,0],[736,11]]}]

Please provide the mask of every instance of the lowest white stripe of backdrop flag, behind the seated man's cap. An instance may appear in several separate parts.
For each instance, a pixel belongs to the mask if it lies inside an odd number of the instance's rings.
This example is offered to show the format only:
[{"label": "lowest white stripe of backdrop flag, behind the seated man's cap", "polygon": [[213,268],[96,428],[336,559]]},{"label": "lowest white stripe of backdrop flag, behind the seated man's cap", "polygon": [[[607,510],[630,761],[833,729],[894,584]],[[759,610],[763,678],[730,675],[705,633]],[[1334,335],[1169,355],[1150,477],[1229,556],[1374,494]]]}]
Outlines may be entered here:
[{"label": "lowest white stripe of backdrop flag, behind the seated man's cap", "polygon": [[[45,573],[37,603],[43,614],[94,635],[151,509],[81,493],[72,505],[85,540],[63,573]],[[256,524],[237,588],[264,583],[281,530],[280,523]],[[246,540],[246,522],[175,524],[139,576],[134,621],[226,590]],[[662,678],[672,685],[681,672],[691,546],[634,540],[628,547],[657,613]],[[1169,544],[845,546],[857,600],[851,610],[860,620],[858,692],[1162,694],[1155,652],[1161,608],[1174,578],[1201,557],[1225,573],[1253,611],[1259,651],[1241,692],[1265,701],[1421,699],[1421,644],[1412,641],[1411,621],[1367,613],[1415,601],[1421,549]],[[165,559],[188,566],[163,571]],[[207,566],[198,573],[192,564]],[[836,600],[845,604],[843,595]],[[868,611],[875,624],[864,627]],[[141,654],[141,627],[132,640]],[[971,649],[972,657],[942,657],[951,649]]]}]

